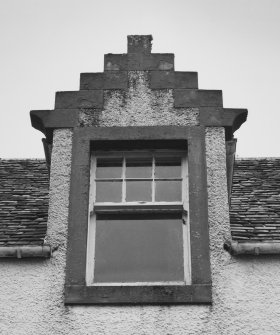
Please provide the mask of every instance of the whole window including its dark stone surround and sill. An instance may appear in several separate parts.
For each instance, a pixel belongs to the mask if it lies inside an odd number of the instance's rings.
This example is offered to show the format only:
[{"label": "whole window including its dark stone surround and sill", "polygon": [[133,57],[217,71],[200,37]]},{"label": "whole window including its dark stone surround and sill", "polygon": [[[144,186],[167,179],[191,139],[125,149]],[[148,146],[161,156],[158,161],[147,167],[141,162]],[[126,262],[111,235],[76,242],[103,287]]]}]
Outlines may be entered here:
[{"label": "whole window including its dark stone surround and sill", "polygon": [[206,176],[203,126],[74,128],[65,304],[211,303]]}]

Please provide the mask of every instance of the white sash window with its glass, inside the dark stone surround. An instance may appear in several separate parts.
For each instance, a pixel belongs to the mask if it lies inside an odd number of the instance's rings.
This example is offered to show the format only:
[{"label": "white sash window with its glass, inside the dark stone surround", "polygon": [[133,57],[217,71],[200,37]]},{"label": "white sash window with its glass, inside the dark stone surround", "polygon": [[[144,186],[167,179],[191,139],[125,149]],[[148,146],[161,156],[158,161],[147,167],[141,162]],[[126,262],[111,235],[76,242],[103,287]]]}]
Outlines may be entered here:
[{"label": "white sash window with its glass, inside the dark stone surround", "polygon": [[87,285],[190,283],[186,151],[91,156]]}]

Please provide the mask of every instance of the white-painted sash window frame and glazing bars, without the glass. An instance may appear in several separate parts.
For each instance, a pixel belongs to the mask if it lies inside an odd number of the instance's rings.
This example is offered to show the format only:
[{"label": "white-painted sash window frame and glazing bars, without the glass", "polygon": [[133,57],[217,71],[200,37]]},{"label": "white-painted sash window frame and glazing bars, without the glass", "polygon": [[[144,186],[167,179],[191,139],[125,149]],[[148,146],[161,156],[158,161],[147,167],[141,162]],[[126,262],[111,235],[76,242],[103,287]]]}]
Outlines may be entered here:
[{"label": "white-painted sash window frame and glazing bars, without the glass", "polygon": [[[153,157],[152,178],[143,178],[143,180],[152,179],[152,201],[134,201],[125,202],[126,179],[125,158],[127,157]],[[182,182],[182,199],[173,202],[156,202],[155,199],[155,155],[160,157],[182,157],[181,182]],[[97,158],[117,158],[123,157],[122,165],[122,202],[95,202],[96,198],[96,161]],[[90,189],[89,189],[89,208],[88,208],[88,236],[87,236],[87,265],[86,265],[86,285],[87,286],[155,286],[155,285],[190,285],[191,284],[191,257],[190,257],[190,223],[189,223],[189,200],[188,200],[188,160],[187,152],[179,150],[128,150],[128,151],[93,151],[91,153],[90,164]],[[115,178],[111,178],[116,180]],[[132,178],[137,179],[137,178]],[[140,179],[140,178],[139,178]],[[138,179],[138,180],[139,180]],[[170,180],[160,178],[160,180]],[[179,179],[179,178],[174,178]],[[110,179],[107,179],[110,180]],[[171,179],[172,180],[172,179]],[[162,282],[94,282],[94,263],[95,263],[95,235],[96,235],[96,215],[99,213],[172,213],[173,211],[182,212],[182,234],[183,234],[183,257],[184,257],[184,280],[183,281],[162,281]]]}]

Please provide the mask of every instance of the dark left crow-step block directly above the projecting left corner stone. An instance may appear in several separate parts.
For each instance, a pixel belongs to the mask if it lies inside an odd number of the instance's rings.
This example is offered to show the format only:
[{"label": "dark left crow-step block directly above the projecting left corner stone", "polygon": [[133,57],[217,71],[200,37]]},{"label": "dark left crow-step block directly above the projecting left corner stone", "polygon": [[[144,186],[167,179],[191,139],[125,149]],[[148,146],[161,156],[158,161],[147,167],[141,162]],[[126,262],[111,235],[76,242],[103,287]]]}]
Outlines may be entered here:
[{"label": "dark left crow-step block directly above the projecting left corner stone", "polygon": [[55,108],[102,108],[103,90],[56,92]]}]

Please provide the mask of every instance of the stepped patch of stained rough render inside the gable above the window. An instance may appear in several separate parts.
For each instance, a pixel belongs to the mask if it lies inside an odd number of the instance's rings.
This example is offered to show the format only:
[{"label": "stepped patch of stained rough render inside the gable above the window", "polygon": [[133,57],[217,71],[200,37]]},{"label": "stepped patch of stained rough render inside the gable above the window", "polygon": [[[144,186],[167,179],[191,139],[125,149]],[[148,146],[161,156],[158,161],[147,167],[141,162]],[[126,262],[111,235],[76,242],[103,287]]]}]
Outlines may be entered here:
[{"label": "stepped patch of stained rough render inside the gable above the window", "polygon": [[106,90],[104,109],[84,109],[82,126],[198,125],[198,108],[174,108],[171,89],[150,89],[148,71],[129,71],[128,90]]}]

